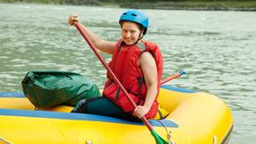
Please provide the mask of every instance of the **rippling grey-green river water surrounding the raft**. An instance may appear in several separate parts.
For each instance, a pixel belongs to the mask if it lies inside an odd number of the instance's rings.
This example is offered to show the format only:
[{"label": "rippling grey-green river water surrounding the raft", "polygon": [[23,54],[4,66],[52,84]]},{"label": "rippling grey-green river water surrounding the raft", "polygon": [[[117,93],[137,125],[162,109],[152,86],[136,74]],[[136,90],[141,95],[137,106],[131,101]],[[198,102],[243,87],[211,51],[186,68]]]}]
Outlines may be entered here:
[{"label": "rippling grey-green river water surrounding the raft", "polygon": [[[88,6],[0,4],[0,91],[22,91],[28,70],[65,70],[102,88],[106,70],[66,21],[77,13],[102,39],[116,41],[124,9]],[[164,57],[163,77],[184,69],[169,85],[222,98],[234,117],[231,144],[256,140],[256,13],[245,11],[143,10],[147,40]],[[109,55],[102,54],[107,60]]]}]

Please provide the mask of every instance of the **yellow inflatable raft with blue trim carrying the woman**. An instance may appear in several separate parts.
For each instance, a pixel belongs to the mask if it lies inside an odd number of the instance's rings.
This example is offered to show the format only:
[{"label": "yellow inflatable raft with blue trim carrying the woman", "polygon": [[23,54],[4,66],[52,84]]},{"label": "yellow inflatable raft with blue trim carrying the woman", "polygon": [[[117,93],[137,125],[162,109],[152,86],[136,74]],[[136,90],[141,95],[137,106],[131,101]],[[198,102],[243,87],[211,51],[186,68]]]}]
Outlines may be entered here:
[{"label": "yellow inflatable raft with blue trim carrying the woman", "polygon": [[[169,116],[149,122],[162,138],[176,144],[224,144],[230,139],[231,112],[218,97],[163,85],[158,101]],[[71,110],[60,105],[34,111],[22,93],[0,92],[0,143],[154,143],[142,122]]]}]

